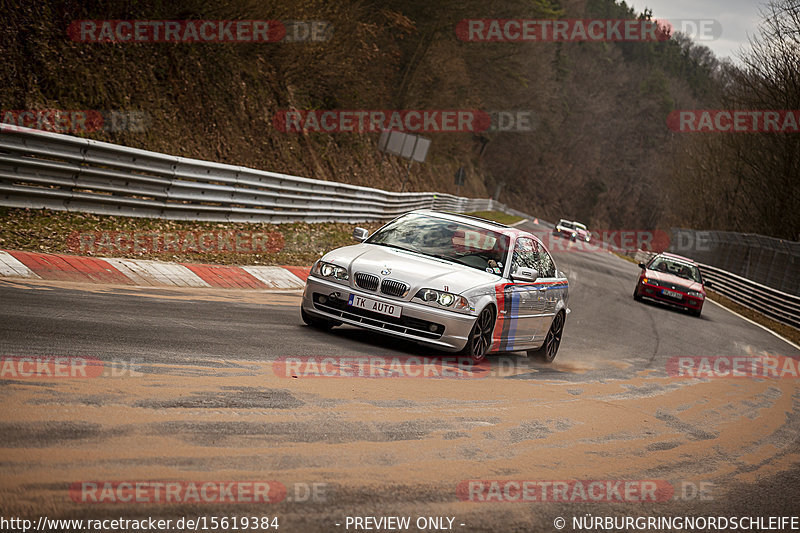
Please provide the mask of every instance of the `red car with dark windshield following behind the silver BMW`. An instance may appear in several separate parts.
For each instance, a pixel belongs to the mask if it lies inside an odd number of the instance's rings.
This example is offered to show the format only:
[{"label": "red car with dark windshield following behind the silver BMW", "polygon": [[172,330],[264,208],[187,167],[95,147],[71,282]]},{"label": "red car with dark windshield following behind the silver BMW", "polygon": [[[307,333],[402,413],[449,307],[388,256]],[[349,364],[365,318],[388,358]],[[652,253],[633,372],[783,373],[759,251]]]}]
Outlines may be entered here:
[{"label": "red car with dark windshield following behind the silver BMW", "polygon": [[661,253],[649,263],[639,263],[642,273],[633,291],[633,299],[649,298],[657,302],[682,307],[694,316],[700,316],[706,300],[705,287],[697,263],[671,253]]}]

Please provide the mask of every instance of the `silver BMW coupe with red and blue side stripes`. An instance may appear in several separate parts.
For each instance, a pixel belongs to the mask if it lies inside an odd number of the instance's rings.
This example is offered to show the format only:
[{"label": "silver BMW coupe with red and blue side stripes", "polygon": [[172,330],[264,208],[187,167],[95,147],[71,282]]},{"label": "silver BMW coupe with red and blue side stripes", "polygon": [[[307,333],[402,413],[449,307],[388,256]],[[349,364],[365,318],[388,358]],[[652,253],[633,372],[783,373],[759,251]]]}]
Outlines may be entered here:
[{"label": "silver BMW coupe with red and blue side stripes", "polygon": [[478,362],[490,352],[558,353],[569,283],[534,235],[480,218],[412,211],[317,261],[301,315],[350,324]]}]

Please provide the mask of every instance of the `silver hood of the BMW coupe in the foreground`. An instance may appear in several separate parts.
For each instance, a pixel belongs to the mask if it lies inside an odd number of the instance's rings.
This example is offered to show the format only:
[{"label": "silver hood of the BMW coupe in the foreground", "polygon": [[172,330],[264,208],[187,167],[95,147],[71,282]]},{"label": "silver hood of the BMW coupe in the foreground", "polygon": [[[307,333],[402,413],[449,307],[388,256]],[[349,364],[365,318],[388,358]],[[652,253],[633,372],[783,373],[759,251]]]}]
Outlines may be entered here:
[{"label": "silver hood of the BMW coupe in the foreground", "polygon": [[[500,280],[500,276],[476,268],[375,244],[362,243],[337,248],[325,254],[322,260],[347,267],[351,285],[356,272],[405,282],[411,286],[407,300],[423,288],[460,294],[476,286]],[[391,272],[383,274],[386,269]]]}]

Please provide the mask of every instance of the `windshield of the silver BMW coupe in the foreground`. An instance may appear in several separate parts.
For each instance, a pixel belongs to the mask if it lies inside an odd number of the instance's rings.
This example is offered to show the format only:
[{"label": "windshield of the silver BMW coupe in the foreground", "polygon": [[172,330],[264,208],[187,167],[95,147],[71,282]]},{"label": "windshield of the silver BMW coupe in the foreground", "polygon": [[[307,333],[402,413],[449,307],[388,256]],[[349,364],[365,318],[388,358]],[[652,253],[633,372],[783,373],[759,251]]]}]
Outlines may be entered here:
[{"label": "windshield of the silver BMW coupe in the foreground", "polygon": [[509,237],[463,222],[410,214],[387,224],[366,242],[410,250],[501,275]]}]

